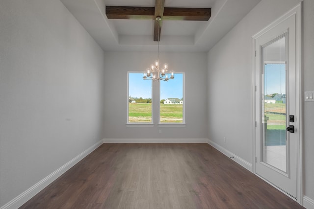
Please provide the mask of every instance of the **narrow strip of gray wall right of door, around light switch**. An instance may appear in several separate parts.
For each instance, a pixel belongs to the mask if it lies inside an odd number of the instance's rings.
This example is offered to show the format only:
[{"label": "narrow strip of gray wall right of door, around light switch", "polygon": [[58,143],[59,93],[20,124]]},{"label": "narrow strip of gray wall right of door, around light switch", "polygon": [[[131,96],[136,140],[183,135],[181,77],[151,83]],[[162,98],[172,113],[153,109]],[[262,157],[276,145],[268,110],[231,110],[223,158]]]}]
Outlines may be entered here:
[{"label": "narrow strip of gray wall right of door, around light switch", "polygon": [[[303,1],[303,90],[314,91],[314,0]],[[314,200],[314,102],[303,102],[304,194]],[[314,206],[314,202],[313,202]]]}]

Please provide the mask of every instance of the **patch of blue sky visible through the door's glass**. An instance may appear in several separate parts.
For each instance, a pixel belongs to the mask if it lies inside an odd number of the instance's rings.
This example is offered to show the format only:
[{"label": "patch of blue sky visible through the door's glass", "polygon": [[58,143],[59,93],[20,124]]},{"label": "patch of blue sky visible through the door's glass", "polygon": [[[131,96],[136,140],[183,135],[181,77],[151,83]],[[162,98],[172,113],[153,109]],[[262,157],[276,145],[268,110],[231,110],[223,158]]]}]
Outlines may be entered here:
[{"label": "patch of blue sky visible through the door's glass", "polygon": [[285,64],[265,65],[264,92],[286,94],[286,70]]}]

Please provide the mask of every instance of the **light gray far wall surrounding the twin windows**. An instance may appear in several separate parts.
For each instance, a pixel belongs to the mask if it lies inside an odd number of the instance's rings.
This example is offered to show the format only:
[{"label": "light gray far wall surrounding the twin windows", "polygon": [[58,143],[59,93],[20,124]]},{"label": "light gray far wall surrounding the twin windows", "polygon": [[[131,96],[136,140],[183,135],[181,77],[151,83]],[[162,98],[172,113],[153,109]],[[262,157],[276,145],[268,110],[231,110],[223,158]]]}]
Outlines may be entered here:
[{"label": "light gray far wall surrounding the twin windows", "polygon": [[160,52],[160,63],[168,63],[171,70],[185,72],[186,127],[126,126],[127,72],[144,72],[156,59],[157,51],[105,52],[105,138],[207,139],[207,53]]}]

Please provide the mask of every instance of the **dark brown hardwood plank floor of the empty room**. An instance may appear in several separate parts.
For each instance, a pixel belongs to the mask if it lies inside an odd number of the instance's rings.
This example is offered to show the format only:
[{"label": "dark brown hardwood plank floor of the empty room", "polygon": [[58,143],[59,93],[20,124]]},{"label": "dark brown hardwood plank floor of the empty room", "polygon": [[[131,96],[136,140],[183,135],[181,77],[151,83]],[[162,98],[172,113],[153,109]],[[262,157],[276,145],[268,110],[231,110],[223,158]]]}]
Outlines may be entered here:
[{"label": "dark brown hardwood plank floor of the empty room", "polygon": [[21,209],[301,209],[208,144],[103,144]]}]

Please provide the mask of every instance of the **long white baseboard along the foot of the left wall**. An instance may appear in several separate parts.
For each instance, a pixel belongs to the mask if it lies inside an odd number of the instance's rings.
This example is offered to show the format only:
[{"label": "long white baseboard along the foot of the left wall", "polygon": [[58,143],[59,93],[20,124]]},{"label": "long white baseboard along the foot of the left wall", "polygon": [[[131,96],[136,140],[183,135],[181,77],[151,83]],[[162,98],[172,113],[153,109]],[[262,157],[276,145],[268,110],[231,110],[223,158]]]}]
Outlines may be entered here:
[{"label": "long white baseboard along the foot of the left wall", "polygon": [[89,147],[85,151],[83,151],[81,154],[73,158],[68,163],[65,163],[60,168],[52,172],[49,176],[35,184],[34,186],[31,186],[29,189],[24,191],[22,194],[2,206],[0,209],[17,209],[21,207],[23,204],[25,204],[28,200],[30,200],[32,197],[34,197],[38,192],[43,190],[46,186],[50,185],[54,180],[56,180],[58,177],[60,177],[63,173],[65,173],[67,170],[69,170],[71,167],[73,167],[76,163],[78,163],[80,160],[85,158],[87,155],[89,155],[92,151],[94,151],[97,147],[102,145],[104,142],[104,139],[100,140],[93,146]]}]

